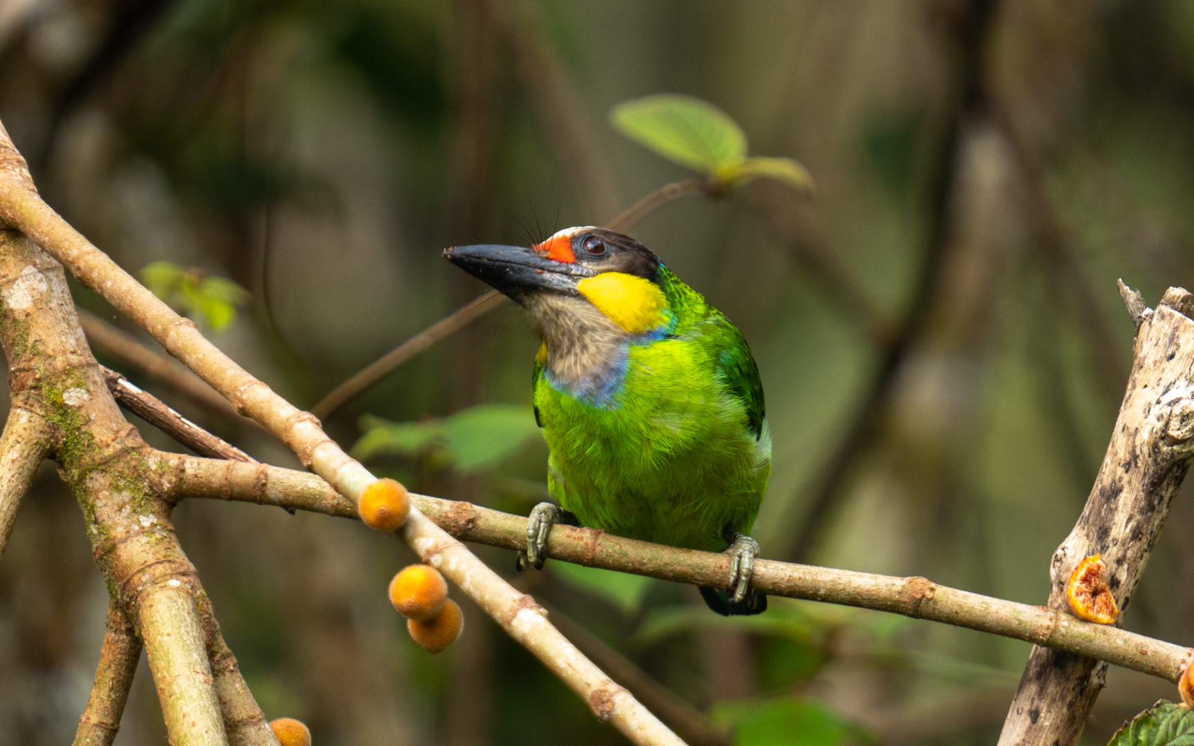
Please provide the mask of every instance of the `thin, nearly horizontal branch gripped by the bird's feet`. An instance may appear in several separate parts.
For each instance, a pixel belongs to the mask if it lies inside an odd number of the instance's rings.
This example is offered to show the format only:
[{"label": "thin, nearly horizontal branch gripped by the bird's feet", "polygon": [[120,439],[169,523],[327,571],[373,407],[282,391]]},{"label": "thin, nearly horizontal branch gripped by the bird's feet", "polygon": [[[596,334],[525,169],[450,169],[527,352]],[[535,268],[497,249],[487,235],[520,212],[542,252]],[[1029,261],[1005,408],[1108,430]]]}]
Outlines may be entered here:
[{"label": "thin, nearly horizontal branch gripped by the bird's feet", "polygon": [[[176,498],[238,500],[356,517],[356,508],[349,500],[303,471],[177,454],[159,452],[158,457],[164,464],[173,464]],[[412,494],[411,499],[420,514],[461,541],[513,550],[527,547],[527,519],[522,516],[426,495]],[[586,567],[704,586],[719,586],[730,577],[730,557],[725,554],[652,544],[562,524],[552,529],[547,556]],[[890,611],[1027,640],[1170,682],[1176,682],[1194,660],[1194,648],[1084,622],[1065,611],[959,591],[924,578],[757,560],[751,585],[767,596]]]}]

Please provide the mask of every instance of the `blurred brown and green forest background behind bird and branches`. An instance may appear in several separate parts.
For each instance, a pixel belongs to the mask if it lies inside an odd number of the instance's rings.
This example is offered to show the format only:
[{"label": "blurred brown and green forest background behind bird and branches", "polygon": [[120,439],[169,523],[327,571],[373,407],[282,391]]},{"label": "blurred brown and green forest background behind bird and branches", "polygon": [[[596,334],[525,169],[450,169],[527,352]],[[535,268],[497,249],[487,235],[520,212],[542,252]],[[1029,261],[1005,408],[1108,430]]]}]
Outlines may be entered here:
[{"label": "blurred brown and green forest background behind bird and branches", "polygon": [[[775,443],[764,556],[1044,603],[1131,365],[1115,280],[1150,306],[1194,282],[1194,4],[0,0],[0,119],[42,193],[130,272],[167,260],[244,288],[208,331],[301,407],[485,290],[445,246],[603,223],[694,175],[609,124],[660,92],[720,106],[752,154],[817,181],[696,195],[630,230],[753,349]],[[501,304],[326,426],[345,446],[390,433],[358,452],[417,491],[525,514],[546,494],[525,427],[537,346]],[[470,458],[494,424],[505,445]],[[201,500],[176,524],[266,715],[320,746],[624,742],[470,604],[449,651],[411,642],[384,588],[414,557],[388,537]],[[1186,493],[1128,629],[1194,645],[1192,535]],[[1029,651],[776,599],[728,621],[691,587],[516,575],[475,549],[744,745],[991,744]],[[0,560],[0,744],[73,738],[105,608],[47,464]],[[1113,668],[1083,742],[1175,696]],[[117,744],[164,740],[142,664]]]}]

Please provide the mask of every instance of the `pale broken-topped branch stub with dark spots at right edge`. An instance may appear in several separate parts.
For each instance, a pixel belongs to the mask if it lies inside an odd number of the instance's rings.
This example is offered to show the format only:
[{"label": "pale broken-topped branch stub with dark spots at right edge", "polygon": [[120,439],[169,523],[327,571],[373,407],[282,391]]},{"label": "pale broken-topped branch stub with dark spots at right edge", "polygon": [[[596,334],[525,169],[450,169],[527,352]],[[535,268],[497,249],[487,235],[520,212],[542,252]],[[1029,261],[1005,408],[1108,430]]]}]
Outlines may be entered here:
[{"label": "pale broken-topped branch stub with dark spots at right edge", "polygon": [[[1132,312],[1139,304],[1125,291],[1121,288]],[[1133,313],[1139,326],[1132,376],[1087,506],[1053,554],[1052,609],[1066,609],[1066,582],[1091,555],[1101,555],[1107,565],[1107,585],[1120,609],[1115,624],[1132,603],[1194,455],[1190,314],[1194,296],[1180,288],[1170,288],[1156,310]],[[1106,662],[1091,658],[1033,648],[999,744],[1076,744],[1103,688],[1106,668]]]}]

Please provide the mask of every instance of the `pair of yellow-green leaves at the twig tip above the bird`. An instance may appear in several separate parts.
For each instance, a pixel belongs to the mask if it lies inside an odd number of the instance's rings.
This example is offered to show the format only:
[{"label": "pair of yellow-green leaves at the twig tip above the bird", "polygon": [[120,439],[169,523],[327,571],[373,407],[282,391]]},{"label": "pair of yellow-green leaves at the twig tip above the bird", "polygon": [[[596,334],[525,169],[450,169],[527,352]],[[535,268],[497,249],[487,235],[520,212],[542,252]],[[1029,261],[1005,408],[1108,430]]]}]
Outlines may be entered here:
[{"label": "pair of yellow-green leaves at the twig tip above the bird", "polygon": [[812,191],[804,166],[789,158],[746,155],[746,135],[730,115],[691,95],[658,93],[623,101],[609,113],[614,127],[667,160],[698,171],[728,191],[758,177]]}]

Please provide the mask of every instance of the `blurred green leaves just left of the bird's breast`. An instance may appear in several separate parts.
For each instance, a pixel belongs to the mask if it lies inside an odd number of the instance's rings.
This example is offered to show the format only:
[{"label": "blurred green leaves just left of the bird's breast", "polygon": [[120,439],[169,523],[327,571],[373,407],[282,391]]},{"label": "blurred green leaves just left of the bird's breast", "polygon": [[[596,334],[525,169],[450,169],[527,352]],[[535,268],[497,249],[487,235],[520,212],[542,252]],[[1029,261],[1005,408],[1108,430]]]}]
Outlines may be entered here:
[{"label": "blurred green leaves just left of the bird's breast", "polygon": [[378,417],[361,419],[364,434],[352,456],[421,457],[439,450],[462,471],[475,471],[513,454],[540,432],[530,407],[478,405],[454,414],[418,423],[392,423]]}]

